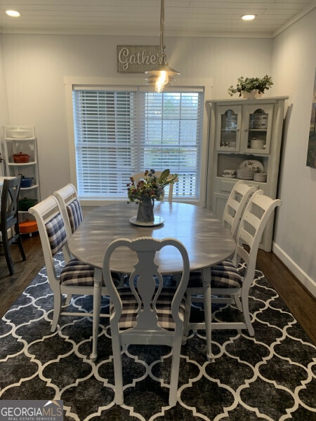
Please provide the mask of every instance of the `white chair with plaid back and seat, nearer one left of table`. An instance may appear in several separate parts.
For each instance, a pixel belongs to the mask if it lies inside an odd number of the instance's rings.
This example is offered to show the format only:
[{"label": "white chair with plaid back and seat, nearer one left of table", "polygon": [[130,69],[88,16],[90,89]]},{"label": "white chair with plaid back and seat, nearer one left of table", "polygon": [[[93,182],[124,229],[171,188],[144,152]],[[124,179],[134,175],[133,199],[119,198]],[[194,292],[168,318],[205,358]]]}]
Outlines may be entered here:
[{"label": "white chair with plaid back and seat, nearer one left of table", "polygon": [[[70,228],[62,216],[58,200],[55,196],[48,196],[37,205],[29,208],[29,213],[37,220],[37,227],[41,237],[48,282],[54,295],[53,321],[51,331],[57,328],[60,315],[68,316],[92,316],[86,312],[74,313],[62,310],[62,294],[93,295],[94,268],[77,259],[71,259],[62,268],[58,276],[54,255],[61,249],[67,249],[67,239],[70,236]],[[119,283],[119,276],[114,279]],[[105,286],[103,295],[108,295]],[[66,303],[68,304],[68,302]]]}]

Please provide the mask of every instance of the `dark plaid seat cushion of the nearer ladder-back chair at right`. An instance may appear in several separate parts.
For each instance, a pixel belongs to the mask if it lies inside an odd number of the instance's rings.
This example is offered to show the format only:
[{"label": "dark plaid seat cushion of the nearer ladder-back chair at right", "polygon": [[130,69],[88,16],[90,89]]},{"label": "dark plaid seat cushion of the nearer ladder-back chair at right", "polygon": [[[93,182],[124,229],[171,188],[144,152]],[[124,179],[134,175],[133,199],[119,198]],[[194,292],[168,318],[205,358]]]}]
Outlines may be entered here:
[{"label": "dark plaid seat cushion of the nearer ladder-back chair at right", "polygon": [[[202,274],[191,272],[188,288],[201,287]],[[211,288],[242,288],[242,276],[231,260],[224,260],[211,267]]]}]

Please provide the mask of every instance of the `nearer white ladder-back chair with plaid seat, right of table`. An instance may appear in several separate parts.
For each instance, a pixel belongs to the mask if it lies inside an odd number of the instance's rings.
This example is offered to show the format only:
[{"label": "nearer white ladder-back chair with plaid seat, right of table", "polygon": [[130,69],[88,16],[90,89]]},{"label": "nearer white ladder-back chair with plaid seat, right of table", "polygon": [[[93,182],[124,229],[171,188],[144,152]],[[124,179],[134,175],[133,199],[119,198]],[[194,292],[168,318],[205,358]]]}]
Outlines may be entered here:
[{"label": "nearer white ladder-back chair with plaid seat, right of table", "polygon": [[[220,321],[212,322],[212,329],[247,329],[249,335],[254,336],[254,328],[249,314],[249,288],[254,281],[256,270],[256,258],[258,247],[263,234],[263,229],[277,206],[281,206],[279,199],[270,199],[258,190],[251,196],[244,210],[242,220],[237,232],[237,245],[232,260],[224,260],[218,265],[211,267],[211,295],[212,302],[216,302],[217,296],[240,298],[240,308],[244,321]],[[245,263],[245,272],[242,275],[238,269],[239,262]],[[199,302],[203,294],[203,279],[199,272],[191,273],[187,288],[187,312],[190,312],[190,302]],[[205,308],[211,303],[204,302]],[[188,330],[205,330],[205,323],[189,323],[185,328]]]}]

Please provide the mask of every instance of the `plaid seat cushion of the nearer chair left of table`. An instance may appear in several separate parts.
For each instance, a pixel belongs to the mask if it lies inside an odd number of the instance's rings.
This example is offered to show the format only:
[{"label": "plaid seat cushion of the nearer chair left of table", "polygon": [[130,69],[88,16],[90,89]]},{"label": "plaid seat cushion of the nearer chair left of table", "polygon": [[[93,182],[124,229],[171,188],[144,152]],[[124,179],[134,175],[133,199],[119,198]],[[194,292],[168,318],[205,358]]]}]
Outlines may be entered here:
[{"label": "plaid seat cushion of the nearer chair left of table", "polygon": [[[60,283],[62,285],[79,285],[79,286],[93,286],[94,284],[94,267],[86,265],[77,259],[72,259],[60,272]],[[116,272],[112,273],[113,282],[116,286],[119,285],[120,275]],[[105,283],[103,281],[103,286]]]}]

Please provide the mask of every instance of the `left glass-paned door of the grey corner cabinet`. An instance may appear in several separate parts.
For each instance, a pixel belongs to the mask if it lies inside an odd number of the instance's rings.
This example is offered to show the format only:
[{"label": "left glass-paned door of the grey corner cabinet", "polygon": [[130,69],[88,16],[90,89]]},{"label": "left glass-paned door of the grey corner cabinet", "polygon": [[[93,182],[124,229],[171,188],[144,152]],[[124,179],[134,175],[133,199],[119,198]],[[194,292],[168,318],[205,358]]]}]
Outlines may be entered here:
[{"label": "left glass-paned door of the grey corner cabinet", "polygon": [[216,122],[218,150],[239,150],[241,120],[242,107],[240,105],[218,107]]}]

